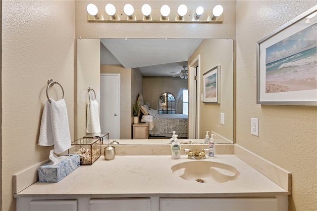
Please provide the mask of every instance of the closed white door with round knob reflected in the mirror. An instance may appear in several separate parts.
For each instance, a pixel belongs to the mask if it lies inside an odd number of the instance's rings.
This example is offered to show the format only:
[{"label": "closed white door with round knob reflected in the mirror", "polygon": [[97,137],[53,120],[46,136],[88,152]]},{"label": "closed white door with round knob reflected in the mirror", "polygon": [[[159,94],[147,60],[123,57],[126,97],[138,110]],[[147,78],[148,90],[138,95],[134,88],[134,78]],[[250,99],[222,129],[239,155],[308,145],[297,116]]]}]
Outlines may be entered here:
[{"label": "closed white door with round knob reflected in the mirror", "polygon": [[120,139],[120,74],[100,75],[100,127]]}]

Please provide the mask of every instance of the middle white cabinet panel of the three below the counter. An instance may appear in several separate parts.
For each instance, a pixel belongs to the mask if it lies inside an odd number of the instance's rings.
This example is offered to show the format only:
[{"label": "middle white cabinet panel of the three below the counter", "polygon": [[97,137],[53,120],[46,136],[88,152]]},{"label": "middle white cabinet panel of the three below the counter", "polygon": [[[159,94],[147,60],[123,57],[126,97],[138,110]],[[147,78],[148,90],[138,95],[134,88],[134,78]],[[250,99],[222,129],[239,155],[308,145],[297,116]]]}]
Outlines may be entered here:
[{"label": "middle white cabinet panel of the three below the counter", "polygon": [[91,199],[89,211],[150,211],[150,198]]}]

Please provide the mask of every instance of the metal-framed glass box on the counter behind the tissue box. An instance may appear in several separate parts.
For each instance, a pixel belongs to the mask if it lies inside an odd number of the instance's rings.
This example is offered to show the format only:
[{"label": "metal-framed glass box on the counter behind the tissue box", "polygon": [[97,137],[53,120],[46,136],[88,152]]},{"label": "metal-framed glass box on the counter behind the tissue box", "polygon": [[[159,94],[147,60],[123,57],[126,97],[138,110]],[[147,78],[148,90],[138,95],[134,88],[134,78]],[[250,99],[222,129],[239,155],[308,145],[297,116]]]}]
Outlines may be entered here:
[{"label": "metal-framed glass box on the counter behind the tissue box", "polygon": [[80,138],[71,143],[68,154],[80,155],[80,165],[92,165],[100,157],[100,138]]}]

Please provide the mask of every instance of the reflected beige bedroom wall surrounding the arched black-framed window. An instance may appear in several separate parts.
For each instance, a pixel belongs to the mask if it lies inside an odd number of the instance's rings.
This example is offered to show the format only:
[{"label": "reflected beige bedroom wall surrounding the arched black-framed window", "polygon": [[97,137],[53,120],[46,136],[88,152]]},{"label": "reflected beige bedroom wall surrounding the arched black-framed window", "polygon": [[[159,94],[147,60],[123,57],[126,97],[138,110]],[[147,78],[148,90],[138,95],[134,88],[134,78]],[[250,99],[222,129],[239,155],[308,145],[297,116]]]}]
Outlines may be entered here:
[{"label": "reflected beige bedroom wall surrounding the arched black-framed window", "polygon": [[183,113],[183,89],[187,89],[187,80],[179,77],[143,77],[144,102],[149,102],[151,108],[159,110],[159,96],[165,92],[174,95],[175,112]]}]

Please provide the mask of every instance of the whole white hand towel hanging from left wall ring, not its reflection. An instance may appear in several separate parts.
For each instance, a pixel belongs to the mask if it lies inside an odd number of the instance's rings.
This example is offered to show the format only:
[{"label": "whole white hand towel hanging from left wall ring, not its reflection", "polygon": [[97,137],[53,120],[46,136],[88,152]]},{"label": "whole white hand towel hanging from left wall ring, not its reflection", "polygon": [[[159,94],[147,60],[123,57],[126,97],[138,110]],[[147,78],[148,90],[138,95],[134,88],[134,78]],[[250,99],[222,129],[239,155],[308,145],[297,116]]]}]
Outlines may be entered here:
[{"label": "whole white hand towel hanging from left wall ring, not its reflection", "polygon": [[64,99],[50,100],[43,109],[39,145],[54,145],[54,152],[58,154],[71,147],[67,109]]}]

